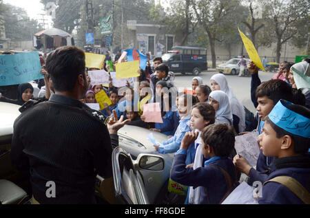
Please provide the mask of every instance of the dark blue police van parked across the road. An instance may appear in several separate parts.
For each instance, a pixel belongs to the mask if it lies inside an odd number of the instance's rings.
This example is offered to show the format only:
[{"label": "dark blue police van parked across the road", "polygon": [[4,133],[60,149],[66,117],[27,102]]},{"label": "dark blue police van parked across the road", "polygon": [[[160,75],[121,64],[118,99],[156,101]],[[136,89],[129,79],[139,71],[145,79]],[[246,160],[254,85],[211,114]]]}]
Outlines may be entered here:
[{"label": "dark blue police van parked across the road", "polygon": [[203,47],[172,47],[172,51],[162,56],[163,62],[174,73],[191,73],[198,76],[208,69],[207,49]]}]

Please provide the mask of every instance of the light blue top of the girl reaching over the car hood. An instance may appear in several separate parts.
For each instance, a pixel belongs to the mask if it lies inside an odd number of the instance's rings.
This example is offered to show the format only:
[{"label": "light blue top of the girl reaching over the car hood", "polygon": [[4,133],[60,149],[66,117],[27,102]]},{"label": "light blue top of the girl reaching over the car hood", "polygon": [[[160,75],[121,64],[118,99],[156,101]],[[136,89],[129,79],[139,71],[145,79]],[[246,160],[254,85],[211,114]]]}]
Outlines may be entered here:
[{"label": "light blue top of the girl reaching over the car hood", "polygon": [[[159,153],[176,153],[180,149],[180,144],[184,138],[185,133],[191,131],[190,128],[190,116],[187,116],[183,120],[180,120],[178,129],[174,134],[174,137],[162,143],[158,148]],[[195,158],[195,146],[194,143],[189,146],[187,150],[187,164],[192,164]]]}]

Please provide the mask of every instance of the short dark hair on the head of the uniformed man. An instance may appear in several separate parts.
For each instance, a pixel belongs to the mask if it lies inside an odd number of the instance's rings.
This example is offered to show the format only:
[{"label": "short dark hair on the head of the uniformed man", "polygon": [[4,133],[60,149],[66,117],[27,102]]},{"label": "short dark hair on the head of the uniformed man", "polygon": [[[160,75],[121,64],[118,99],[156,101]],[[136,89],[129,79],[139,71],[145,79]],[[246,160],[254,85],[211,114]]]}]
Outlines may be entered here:
[{"label": "short dark hair on the head of the uniformed man", "polygon": [[56,91],[72,91],[79,75],[85,76],[85,54],[75,46],[59,47],[48,55],[46,68]]}]

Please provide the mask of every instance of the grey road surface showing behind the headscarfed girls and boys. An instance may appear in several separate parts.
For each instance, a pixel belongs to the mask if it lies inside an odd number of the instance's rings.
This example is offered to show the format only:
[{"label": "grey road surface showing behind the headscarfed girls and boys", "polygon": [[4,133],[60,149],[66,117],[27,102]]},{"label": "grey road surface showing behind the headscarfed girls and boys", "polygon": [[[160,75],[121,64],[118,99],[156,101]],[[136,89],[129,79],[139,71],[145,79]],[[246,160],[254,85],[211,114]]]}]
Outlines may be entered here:
[{"label": "grey road surface showing behind the headscarfed girls and boys", "polygon": [[[207,84],[210,86],[210,78],[214,74],[218,74],[215,69],[209,69],[207,72],[202,72],[199,76],[203,78],[204,84]],[[270,72],[259,72],[260,80],[262,82],[270,80],[274,73]],[[242,102],[247,109],[252,111],[253,113],[256,113],[256,109],[251,102],[251,77],[238,77],[238,76],[231,76],[226,75],[227,82],[229,87],[231,87],[234,91],[234,94]],[[176,87],[178,88],[191,88],[192,89],[192,78],[194,78],[193,75],[187,74],[183,76],[182,74],[176,74],[176,78],[174,80],[174,83],[176,84]]]}]

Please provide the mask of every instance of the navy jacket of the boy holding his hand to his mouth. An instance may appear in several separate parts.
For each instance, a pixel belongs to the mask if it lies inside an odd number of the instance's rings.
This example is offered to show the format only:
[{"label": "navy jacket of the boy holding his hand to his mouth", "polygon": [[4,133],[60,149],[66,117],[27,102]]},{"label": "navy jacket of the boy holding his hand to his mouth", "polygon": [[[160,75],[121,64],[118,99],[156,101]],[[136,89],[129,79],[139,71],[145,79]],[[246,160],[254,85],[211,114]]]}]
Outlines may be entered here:
[{"label": "navy jacket of the boy holding his hand to his mouth", "polygon": [[229,157],[223,157],[211,162],[205,167],[186,168],[187,155],[176,154],[171,171],[171,179],[185,186],[197,188],[203,186],[199,204],[219,204],[227,193],[227,182],[225,175],[215,165],[223,168],[231,176],[232,181],[236,179],[236,168]]}]

